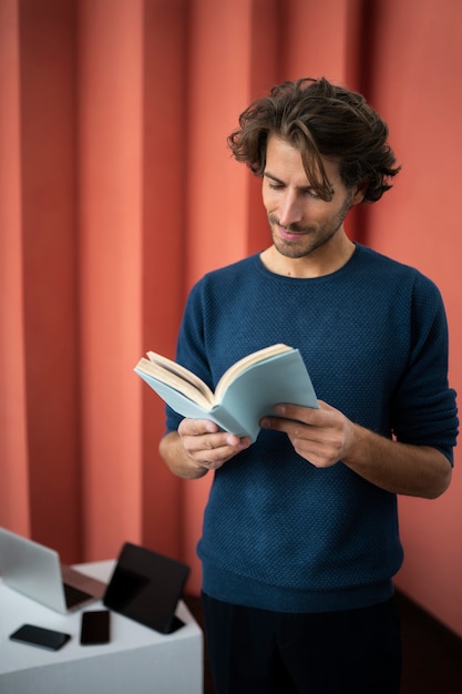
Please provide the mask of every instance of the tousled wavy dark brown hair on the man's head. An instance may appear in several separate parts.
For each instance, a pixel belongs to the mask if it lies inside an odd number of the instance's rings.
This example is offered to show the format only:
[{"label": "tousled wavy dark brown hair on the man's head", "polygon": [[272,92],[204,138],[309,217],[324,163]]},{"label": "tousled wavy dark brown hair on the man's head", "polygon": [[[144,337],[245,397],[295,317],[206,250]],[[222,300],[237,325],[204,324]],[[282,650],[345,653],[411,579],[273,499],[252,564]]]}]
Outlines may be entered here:
[{"label": "tousled wavy dark brown hair on the man's head", "polygon": [[268,135],[275,134],[300,151],[308,181],[324,200],[331,198],[332,190],[321,156],[338,161],[345,185],[361,187],[369,203],[380,200],[401,169],[378,113],[361,94],[326,78],[274,86],[240,114],[239,125],[227,139],[238,162],[263,176]]}]

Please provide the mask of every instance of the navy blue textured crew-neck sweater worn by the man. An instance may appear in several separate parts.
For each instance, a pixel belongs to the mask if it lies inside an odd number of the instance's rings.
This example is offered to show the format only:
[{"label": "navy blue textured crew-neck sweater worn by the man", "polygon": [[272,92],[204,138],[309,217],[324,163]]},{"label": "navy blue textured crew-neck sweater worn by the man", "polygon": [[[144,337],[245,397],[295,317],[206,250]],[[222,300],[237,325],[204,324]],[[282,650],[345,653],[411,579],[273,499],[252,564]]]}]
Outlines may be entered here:
[{"label": "navy blue textured crew-neck sweater worn by the man", "polygon": [[[338,272],[300,279],[254,255],[193,288],[177,360],[214,387],[274,343],[300,349],[319,399],[452,462],[446,320],[418,271],[358,245]],[[179,421],[167,408],[167,430]],[[283,612],[367,606],[391,595],[402,562],[397,498],[341,462],[317,469],[286,435],[260,431],[215,473],[198,554],[204,591],[219,600]]]}]

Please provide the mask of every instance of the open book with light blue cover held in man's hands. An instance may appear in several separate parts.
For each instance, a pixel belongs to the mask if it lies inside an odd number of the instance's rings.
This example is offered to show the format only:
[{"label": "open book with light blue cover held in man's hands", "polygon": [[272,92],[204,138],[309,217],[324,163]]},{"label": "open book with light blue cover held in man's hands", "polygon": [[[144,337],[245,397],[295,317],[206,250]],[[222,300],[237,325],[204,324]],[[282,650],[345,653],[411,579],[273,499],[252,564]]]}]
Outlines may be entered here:
[{"label": "open book with light blue cover held in man's hands", "polygon": [[222,376],[215,392],[179,364],[153,351],[134,370],[175,412],[212,420],[253,441],[261,417],[274,415],[278,402],[319,407],[299,350],[287,345],[271,345],[239,359]]}]

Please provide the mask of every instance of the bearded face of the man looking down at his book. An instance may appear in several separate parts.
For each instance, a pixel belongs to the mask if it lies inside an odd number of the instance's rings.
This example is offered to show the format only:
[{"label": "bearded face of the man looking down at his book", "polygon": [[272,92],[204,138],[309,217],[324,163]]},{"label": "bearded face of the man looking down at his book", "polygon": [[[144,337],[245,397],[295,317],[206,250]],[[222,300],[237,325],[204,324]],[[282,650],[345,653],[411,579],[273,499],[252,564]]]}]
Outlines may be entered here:
[{"label": "bearded face of the man looking down at his book", "polygon": [[288,258],[301,258],[331,242],[350,207],[362,200],[356,188],[345,186],[336,162],[322,163],[333,190],[330,201],[312,190],[300,152],[275,135],[268,139],[263,202],[274,245]]}]

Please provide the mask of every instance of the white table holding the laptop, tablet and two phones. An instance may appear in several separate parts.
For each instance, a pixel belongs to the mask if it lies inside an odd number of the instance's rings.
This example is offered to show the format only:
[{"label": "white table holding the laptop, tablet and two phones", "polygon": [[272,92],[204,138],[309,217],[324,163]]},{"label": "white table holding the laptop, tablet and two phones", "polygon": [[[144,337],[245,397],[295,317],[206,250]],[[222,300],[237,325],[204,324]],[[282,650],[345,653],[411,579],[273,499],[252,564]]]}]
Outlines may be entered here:
[{"label": "white table holding the laptop, tablet and two phones", "polygon": [[[113,561],[79,569],[107,581]],[[86,610],[101,609],[101,601]],[[163,635],[111,612],[111,643],[80,645],[81,611],[61,615],[24,598],[0,581],[1,694],[202,694],[203,633],[181,601],[185,623]],[[9,635],[23,623],[71,634],[60,651],[14,643]]]}]

